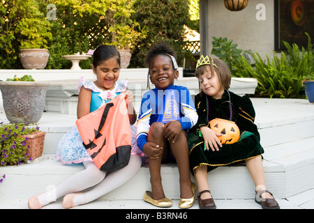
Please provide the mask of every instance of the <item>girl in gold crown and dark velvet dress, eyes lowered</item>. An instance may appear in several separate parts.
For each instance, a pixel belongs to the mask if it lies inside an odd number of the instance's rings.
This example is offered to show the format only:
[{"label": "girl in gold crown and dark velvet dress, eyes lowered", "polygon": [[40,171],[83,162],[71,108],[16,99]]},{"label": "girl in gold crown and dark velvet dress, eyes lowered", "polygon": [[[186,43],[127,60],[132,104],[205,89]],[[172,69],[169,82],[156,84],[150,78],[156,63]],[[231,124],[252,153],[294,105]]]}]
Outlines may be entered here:
[{"label": "girl in gold crown and dark velvet dress, eyes lowered", "polygon": [[[245,160],[255,183],[255,201],[262,208],[279,208],[277,201],[267,190],[264,180],[264,150],[260,145],[257,126],[254,124],[255,110],[250,98],[246,95],[240,97],[227,90],[230,87],[231,73],[225,62],[220,59],[201,56],[197,61],[195,76],[202,91],[195,96],[199,118],[188,133],[188,144],[190,171],[197,180],[200,208],[216,208],[209,191],[207,172],[242,160]],[[225,132],[211,130],[209,122],[214,118],[234,121],[241,133],[239,141],[221,144],[218,137]]]}]

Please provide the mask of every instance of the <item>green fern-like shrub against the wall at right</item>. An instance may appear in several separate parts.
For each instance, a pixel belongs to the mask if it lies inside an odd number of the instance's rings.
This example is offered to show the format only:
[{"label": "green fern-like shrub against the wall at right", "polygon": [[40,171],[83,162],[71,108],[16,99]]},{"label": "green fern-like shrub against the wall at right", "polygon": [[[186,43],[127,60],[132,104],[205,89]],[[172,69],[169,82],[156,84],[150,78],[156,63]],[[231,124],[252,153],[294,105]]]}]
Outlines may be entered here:
[{"label": "green fern-like shrub against the wall at right", "polygon": [[[308,33],[306,33],[308,36]],[[241,63],[233,67],[235,77],[253,77],[257,79],[258,86],[255,94],[267,98],[305,98],[302,79],[307,75],[313,75],[313,44],[308,36],[308,49],[299,49],[296,44],[289,45],[283,42],[287,51],[281,55],[274,52],[273,59],[265,62],[256,52],[253,56],[253,64],[248,63],[242,56]]]}]

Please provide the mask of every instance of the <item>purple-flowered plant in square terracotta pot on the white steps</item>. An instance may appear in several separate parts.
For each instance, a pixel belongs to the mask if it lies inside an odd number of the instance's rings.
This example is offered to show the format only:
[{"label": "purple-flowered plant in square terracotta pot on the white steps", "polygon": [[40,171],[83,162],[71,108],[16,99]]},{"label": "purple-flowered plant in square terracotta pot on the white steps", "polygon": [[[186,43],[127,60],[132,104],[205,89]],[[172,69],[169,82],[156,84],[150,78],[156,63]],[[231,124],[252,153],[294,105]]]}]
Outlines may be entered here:
[{"label": "purple-flowered plant in square terracotta pot on the white steps", "polygon": [[[0,123],[0,167],[19,165],[40,157],[45,133],[36,125],[27,123]],[[5,176],[3,177],[5,178]]]}]

